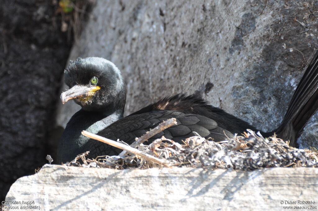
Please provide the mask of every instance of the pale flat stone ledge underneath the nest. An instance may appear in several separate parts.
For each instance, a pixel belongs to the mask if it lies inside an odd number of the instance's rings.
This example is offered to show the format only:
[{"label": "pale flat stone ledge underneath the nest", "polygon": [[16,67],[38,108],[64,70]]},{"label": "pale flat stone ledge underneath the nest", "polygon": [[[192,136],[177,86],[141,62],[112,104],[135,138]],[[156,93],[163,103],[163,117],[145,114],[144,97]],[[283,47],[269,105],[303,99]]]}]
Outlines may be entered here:
[{"label": "pale flat stone ledge underneath the nest", "polygon": [[94,211],[317,207],[313,194],[318,191],[317,173],[317,168],[305,167],[241,172],[177,167],[120,171],[45,165],[37,174],[18,179],[6,202],[31,202],[40,210]]}]

